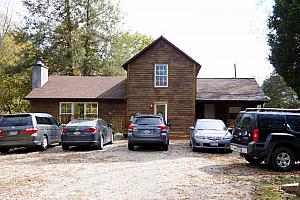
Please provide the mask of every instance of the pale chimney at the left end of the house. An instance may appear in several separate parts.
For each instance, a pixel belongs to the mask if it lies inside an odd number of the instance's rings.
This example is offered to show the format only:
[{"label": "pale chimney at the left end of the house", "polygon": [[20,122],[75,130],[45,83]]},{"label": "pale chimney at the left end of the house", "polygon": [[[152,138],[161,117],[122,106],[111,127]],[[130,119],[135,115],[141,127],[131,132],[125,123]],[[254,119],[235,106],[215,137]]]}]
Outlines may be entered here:
[{"label": "pale chimney at the left end of the house", "polygon": [[41,60],[32,67],[32,89],[42,87],[48,81],[48,68]]}]

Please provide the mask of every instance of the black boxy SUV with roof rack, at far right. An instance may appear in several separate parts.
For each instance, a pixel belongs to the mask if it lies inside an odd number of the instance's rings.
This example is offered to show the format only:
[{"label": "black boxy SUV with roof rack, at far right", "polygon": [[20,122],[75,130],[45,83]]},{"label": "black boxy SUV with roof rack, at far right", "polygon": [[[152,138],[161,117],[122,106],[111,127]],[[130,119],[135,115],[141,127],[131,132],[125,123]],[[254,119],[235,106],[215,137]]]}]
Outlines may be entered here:
[{"label": "black boxy SUV with roof rack, at far right", "polygon": [[300,109],[248,108],[232,131],[230,148],[251,164],[289,171],[300,160]]}]

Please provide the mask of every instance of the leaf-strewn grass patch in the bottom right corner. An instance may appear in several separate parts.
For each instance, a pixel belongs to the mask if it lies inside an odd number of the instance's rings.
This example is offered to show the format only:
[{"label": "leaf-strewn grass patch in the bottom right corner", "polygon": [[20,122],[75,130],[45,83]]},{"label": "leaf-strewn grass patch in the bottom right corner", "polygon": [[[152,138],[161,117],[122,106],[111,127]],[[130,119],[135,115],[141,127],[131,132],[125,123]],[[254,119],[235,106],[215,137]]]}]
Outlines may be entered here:
[{"label": "leaf-strewn grass patch in the bottom right corner", "polygon": [[255,186],[254,198],[265,199],[299,199],[295,194],[288,194],[281,190],[281,185],[288,183],[300,183],[299,176],[277,176],[260,181]]}]

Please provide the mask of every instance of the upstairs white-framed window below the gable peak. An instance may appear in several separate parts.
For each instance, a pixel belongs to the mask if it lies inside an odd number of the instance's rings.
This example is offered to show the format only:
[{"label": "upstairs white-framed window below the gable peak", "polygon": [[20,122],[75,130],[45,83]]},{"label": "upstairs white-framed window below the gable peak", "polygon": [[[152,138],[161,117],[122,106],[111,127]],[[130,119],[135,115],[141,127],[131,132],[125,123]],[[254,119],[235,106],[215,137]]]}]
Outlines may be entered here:
[{"label": "upstairs white-framed window below the gable peak", "polygon": [[168,87],[168,65],[167,64],[155,64],[154,86]]}]

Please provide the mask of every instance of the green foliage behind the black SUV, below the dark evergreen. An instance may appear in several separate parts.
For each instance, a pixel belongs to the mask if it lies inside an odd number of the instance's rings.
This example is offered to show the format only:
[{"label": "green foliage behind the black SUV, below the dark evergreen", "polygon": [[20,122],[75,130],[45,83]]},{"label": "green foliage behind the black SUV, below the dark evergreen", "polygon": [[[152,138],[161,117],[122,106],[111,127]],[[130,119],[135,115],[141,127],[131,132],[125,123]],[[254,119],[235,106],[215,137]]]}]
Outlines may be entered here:
[{"label": "green foliage behind the black SUV, below the dark evergreen", "polygon": [[297,94],[291,87],[288,87],[283,78],[272,74],[263,82],[264,93],[271,98],[266,107],[273,108],[300,108],[300,101]]}]

